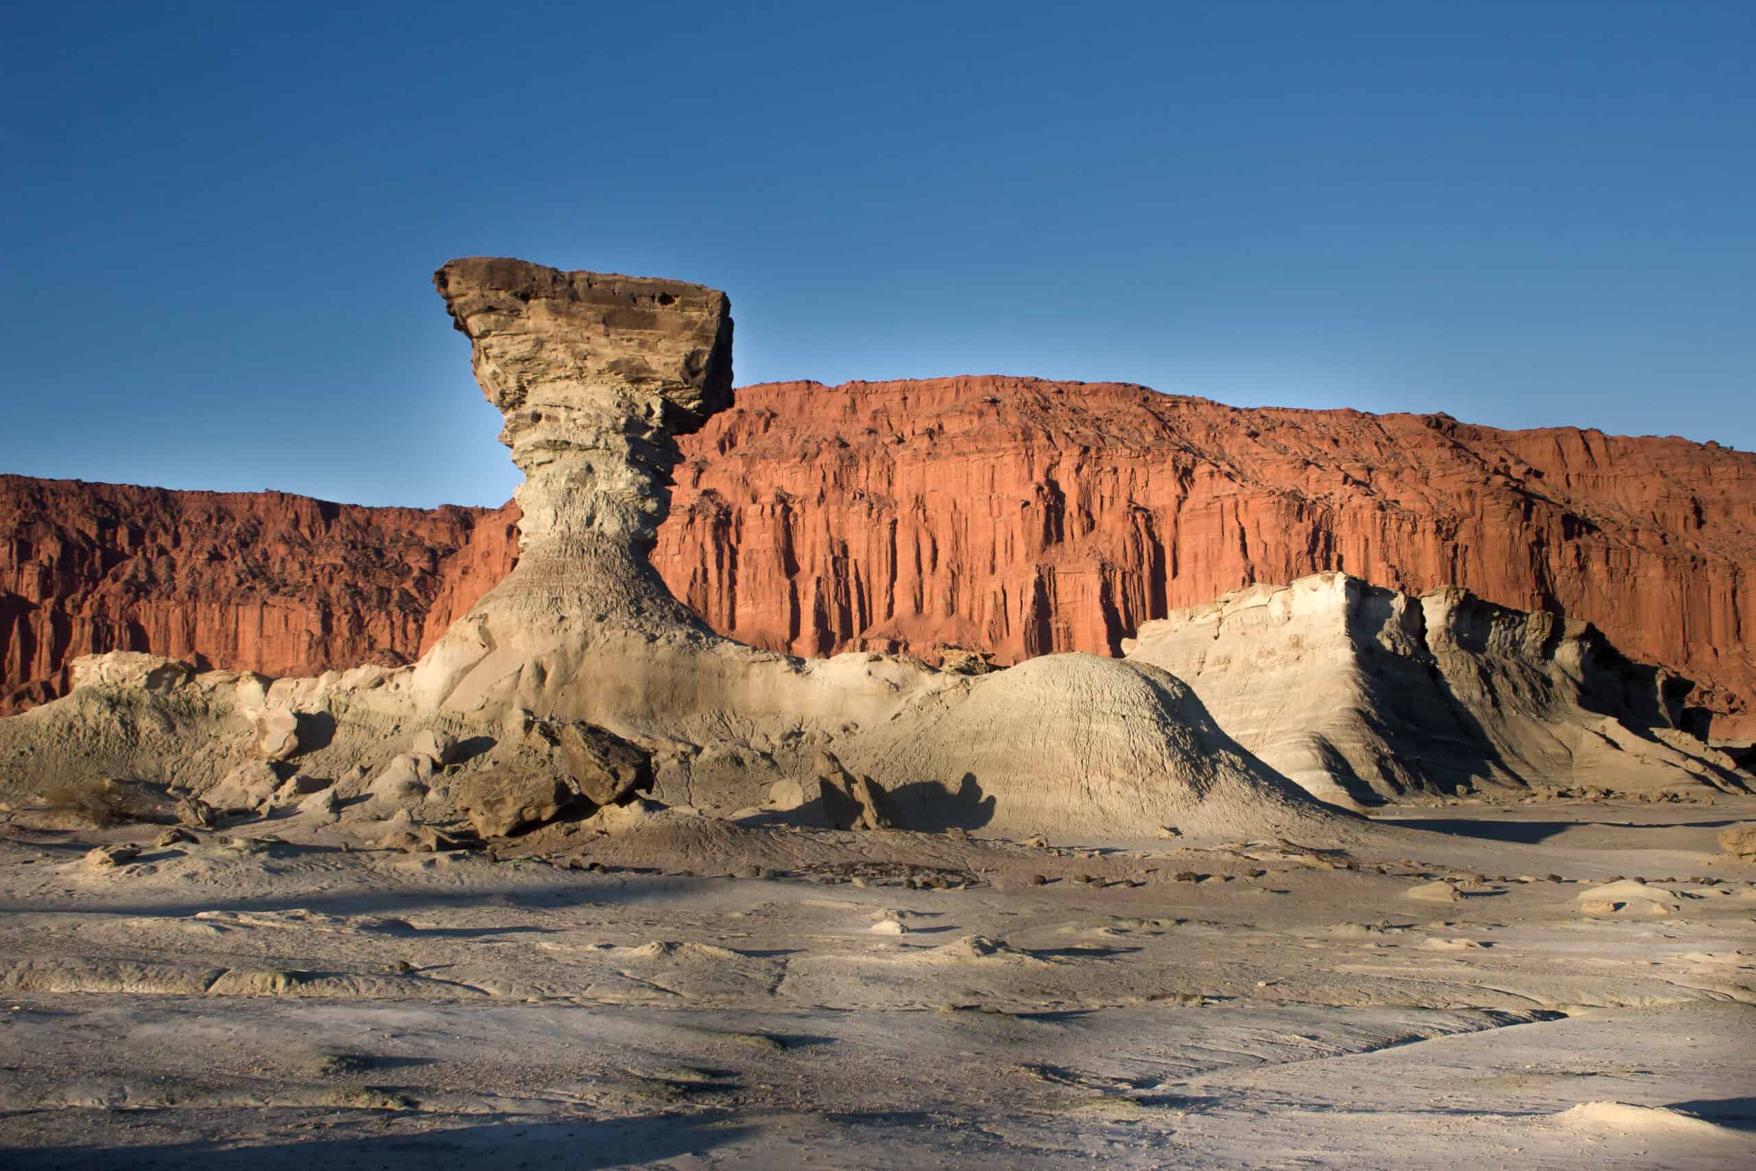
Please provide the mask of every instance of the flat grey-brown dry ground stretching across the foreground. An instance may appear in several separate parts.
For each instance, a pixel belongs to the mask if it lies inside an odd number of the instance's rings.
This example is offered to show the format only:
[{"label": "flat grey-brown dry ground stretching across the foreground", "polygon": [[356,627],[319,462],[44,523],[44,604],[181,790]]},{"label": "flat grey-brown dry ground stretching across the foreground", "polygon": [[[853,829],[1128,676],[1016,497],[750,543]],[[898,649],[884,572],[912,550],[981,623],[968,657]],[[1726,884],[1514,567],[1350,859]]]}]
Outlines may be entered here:
[{"label": "flat grey-brown dry ground stretching across the foreground", "polygon": [[[1712,836],[1752,813],[1452,808],[1345,855],[204,836],[112,871],[11,827],[0,1164],[1740,1166],[1756,869]],[[1666,913],[1584,909],[1617,876]]]}]

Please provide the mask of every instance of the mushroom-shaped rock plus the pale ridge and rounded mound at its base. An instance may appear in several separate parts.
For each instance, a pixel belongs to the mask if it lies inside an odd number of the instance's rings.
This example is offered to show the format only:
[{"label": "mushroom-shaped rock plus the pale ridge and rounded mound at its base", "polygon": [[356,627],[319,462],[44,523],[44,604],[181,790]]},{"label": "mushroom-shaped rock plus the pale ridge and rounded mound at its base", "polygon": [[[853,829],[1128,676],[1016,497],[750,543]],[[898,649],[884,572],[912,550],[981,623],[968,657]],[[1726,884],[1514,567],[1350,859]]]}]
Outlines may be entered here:
[{"label": "mushroom-shaped rock plus the pale ridge and rounded mound at its base", "polygon": [[[964,676],[873,653],[799,660],[709,632],[648,553],[676,435],[730,400],[727,297],[499,258],[453,260],[434,281],[525,472],[513,572],[414,667],[76,688],[0,722],[0,750],[56,743],[65,774],[84,767],[76,753],[118,767],[179,744],[170,755],[190,776],[221,778],[253,743],[241,716],[272,706],[321,732],[309,748],[300,734],[302,771],[355,769],[365,787],[393,769],[386,746],[400,751],[411,725],[509,744],[506,729],[530,718],[585,720],[643,743],[660,795],[671,787],[690,804],[750,806],[776,779],[810,776],[832,744],[897,797],[904,827],[1126,837],[1166,818],[1196,832],[1357,825],[1240,750],[1150,665],[1052,655]],[[407,788],[446,801],[441,778]]]}]

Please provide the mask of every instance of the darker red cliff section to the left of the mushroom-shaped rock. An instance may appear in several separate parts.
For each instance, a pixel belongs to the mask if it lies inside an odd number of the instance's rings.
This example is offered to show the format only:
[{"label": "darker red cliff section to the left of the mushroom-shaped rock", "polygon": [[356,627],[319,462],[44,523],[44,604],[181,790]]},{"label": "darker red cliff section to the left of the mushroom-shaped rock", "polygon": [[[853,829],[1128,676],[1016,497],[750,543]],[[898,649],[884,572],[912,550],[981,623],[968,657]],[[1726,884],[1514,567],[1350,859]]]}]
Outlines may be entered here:
[{"label": "darker red cliff section to the left of the mushroom-shaped rock", "polygon": [[72,658],[311,674],[404,662],[511,569],[516,511],[0,476],[0,715]]}]

